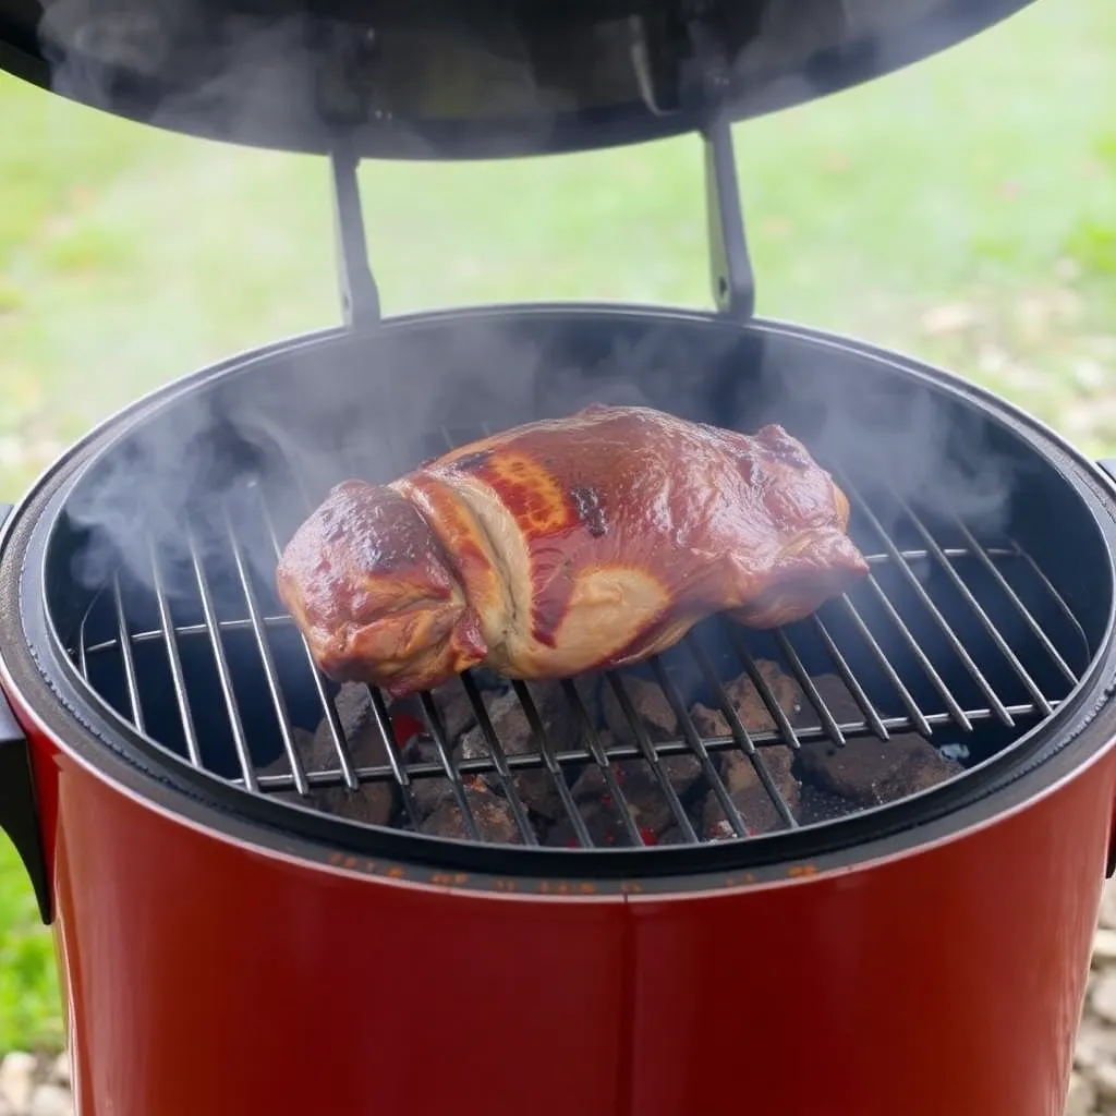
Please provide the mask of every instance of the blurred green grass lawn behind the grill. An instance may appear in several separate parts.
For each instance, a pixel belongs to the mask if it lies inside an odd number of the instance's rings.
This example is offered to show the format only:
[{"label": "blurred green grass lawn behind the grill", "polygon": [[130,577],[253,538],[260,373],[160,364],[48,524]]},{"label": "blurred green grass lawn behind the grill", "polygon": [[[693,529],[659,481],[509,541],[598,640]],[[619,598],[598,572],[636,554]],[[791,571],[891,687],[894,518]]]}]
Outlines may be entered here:
[{"label": "blurred green grass lawn behind the grill", "polygon": [[[1113,451],[1114,104],[1116,4],[1045,0],[740,126],[759,312],[949,365]],[[152,132],[10,78],[0,136],[0,499],[138,393],[337,320],[324,161]],[[360,176],[385,312],[709,305],[695,140]],[[2,845],[0,1050],[58,1040],[54,981]]]}]

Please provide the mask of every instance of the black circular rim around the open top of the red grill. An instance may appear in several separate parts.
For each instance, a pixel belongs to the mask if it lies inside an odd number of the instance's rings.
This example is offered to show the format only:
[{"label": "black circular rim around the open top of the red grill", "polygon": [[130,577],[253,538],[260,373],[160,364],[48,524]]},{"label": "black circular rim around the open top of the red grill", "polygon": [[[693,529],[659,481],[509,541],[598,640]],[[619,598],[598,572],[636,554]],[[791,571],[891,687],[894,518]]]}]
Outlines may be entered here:
[{"label": "black circular rim around the open top of the red grill", "polygon": [[[896,372],[912,375],[935,388],[975,402],[988,417],[1007,424],[1052,461],[1066,480],[1079,492],[1098,529],[1108,541],[1109,577],[1113,576],[1112,554],[1116,549],[1116,506],[1112,502],[1113,485],[1090,462],[1081,458],[1057,434],[994,394],[966,384],[949,373],[898,354],[864,343],[805,327],[770,320],[753,320],[747,326],[727,321],[716,315],[675,311],[658,307],[616,307],[594,305],[512,305],[479,307],[466,310],[436,311],[398,317],[384,323],[383,329],[422,328],[435,321],[460,318],[509,316],[520,318],[538,315],[612,316],[634,318],[647,324],[664,319],[703,323],[733,331],[759,330],[785,334],[820,345],[845,349],[867,359],[883,362]],[[387,874],[397,878],[420,879],[439,885],[482,889],[528,891],[525,886],[503,886],[509,879],[536,877],[545,894],[547,881],[586,882],[596,894],[599,889],[656,889],[658,879],[666,891],[684,886],[723,887],[763,879],[795,876],[796,865],[804,862],[817,867],[819,858],[828,865],[856,864],[867,849],[876,855],[898,852],[937,836],[960,831],[956,822],[963,814],[968,824],[994,816],[1007,805],[1008,788],[1016,787],[1026,776],[1033,775],[1062,753],[1075,741],[1078,763],[1094,754],[1110,739],[1101,734],[1100,723],[1112,719],[1108,705],[1116,681],[1112,680],[1114,655],[1113,610],[1106,623],[1106,635],[1093,662],[1075,690],[1047,721],[1020,737],[1006,752],[972,769],[962,779],[946,782],[923,793],[883,807],[860,811],[833,822],[822,829],[781,831],[745,840],[698,846],[658,846],[652,849],[565,849],[509,848],[429,837],[422,834],[389,829],[371,829],[346,819],[318,814],[291,804],[275,802],[263,796],[246,793],[224,785],[204,770],[160,750],[156,756],[138,733],[122,732],[106,718],[102,700],[90,693],[69,662],[65,650],[55,639],[46,612],[44,557],[52,537],[52,527],[65,506],[69,491],[86,469],[123,437],[135,424],[155,408],[173,402],[183,393],[208,381],[246,369],[252,363],[267,359],[295,347],[325,343],[347,343],[353,335],[345,329],[279,341],[241,354],[230,360],[167,385],[137,401],[121,414],[110,417],[70,451],[65,453],[40,479],[8,523],[0,528],[0,631],[6,627],[18,638],[0,642],[6,656],[0,655],[0,675],[13,686],[13,693],[38,690],[44,702],[28,702],[47,721],[56,739],[66,742],[66,750],[84,766],[103,771],[104,760],[113,760],[117,779],[132,785],[147,799],[161,800],[174,812],[200,811],[208,820],[203,825],[264,847],[294,852],[338,867]],[[13,539],[16,540],[13,545]],[[21,562],[13,576],[11,564]],[[15,626],[11,626],[15,625]],[[26,645],[25,645],[25,642]],[[10,648],[10,651],[8,650]],[[10,680],[10,683],[9,683]],[[37,684],[36,684],[37,683]],[[92,700],[90,700],[92,699]],[[1100,715],[1101,722],[1096,719]],[[115,720],[115,714],[113,714]],[[75,740],[75,729],[80,740]],[[1091,731],[1086,732],[1089,729]],[[109,752],[106,756],[105,745]],[[1091,747],[1089,747],[1091,744]],[[100,760],[100,762],[98,762]],[[1000,761],[1000,762],[998,762]],[[1062,762],[1066,762],[1062,757]],[[1058,764],[1061,766],[1060,763]],[[125,772],[131,777],[121,779]],[[1026,780],[1030,785],[1031,780]],[[1036,781],[1038,786],[1040,782]],[[295,819],[298,825],[296,827]],[[586,858],[584,853],[589,853]],[[651,853],[639,856],[636,853]],[[376,857],[375,860],[368,857]],[[450,874],[456,873],[454,877]],[[681,878],[680,878],[681,877]],[[489,883],[485,883],[489,879]],[[638,881],[638,885],[631,883]],[[556,894],[567,894],[557,892]],[[583,895],[589,894],[581,892]]]}]

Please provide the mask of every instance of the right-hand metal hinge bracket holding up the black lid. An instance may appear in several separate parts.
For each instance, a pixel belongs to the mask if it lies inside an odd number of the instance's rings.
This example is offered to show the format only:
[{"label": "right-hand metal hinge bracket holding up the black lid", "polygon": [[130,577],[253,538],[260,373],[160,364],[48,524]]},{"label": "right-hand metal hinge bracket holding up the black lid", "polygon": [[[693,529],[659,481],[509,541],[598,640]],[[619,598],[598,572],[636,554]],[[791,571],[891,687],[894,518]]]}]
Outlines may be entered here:
[{"label": "right-hand metal hinge bracket holding up the black lid", "polygon": [[702,131],[702,145],[713,301],[720,314],[747,321],[756,311],[756,278],[748,256],[728,117],[719,116]]}]

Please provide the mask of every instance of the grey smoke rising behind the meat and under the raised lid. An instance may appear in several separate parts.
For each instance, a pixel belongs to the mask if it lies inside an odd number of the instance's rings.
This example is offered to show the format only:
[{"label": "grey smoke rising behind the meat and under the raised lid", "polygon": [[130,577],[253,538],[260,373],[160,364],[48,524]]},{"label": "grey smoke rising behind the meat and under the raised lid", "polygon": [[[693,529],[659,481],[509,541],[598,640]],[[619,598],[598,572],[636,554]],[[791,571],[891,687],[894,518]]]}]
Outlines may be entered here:
[{"label": "grey smoke rising behind the meat and under the raised lid", "polygon": [[[766,80],[776,99],[802,99],[824,87],[824,74],[796,64],[843,37],[876,50],[881,67],[892,61],[878,40],[857,38],[858,28],[886,26],[888,0],[815,2],[812,16],[802,6],[757,8],[762,33],[745,45],[738,65],[753,85]],[[158,79],[164,95],[148,106],[153,124],[228,137],[299,136],[319,148],[335,126],[327,118],[348,118],[359,131],[362,118],[378,119],[375,106],[385,90],[423,104],[421,81],[412,76],[408,85],[400,73],[389,36],[366,62],[352,36],[338,33],[331,45],[328,29],[302,17],[202,21],[203,10],[210,9],[185,0],[47,0],[41,36],[57,60],[56,90],[109,106],[118,90],[103,85],[102,67],[112,62]],[[407,33],[413,45],[416,32]],[[949,38],[941,27],[935,35]],[[609,49],[606,39],[603,32],[602,50]],[[405,33],[396,41],[406,41]],[[910,44],[903,49],[910,54]],[[456,59],[465,78],[487,75],[483,88],[464,81],[462,105],[493,115],[522,115],[527,107],[535,123],[525,126],[535,128],[568,107],[561,94],[535,80],[514,36],[499,50],[468,36],[444,39],[439,50],[439,65]],[[479,55],[484,67],[475,65]],[[625,81],[638,85],[634,71],[617,80],[622,89]],[[453,103],[430,108],[443,116],[463,112]],[[424,153],[420,132],[408,134],[405,118],[396,119],[394,136],[398,150]],[[759,281],[762,291],[762,276]],[[1013,465],[989,442],[984,421],[943,407],[929,387],[883,373],[865,376],[856,364],[839,347],[762,333],[741,343],[731,329],[699,336],[671,318],[608,329],[583,320],[562,330],[547,318],[520,327],[474,317],[425,334],[393,327],[301,348],[186,393],[165,417],[127,433],[68,509],[85,539],[73,573],[96,589],[122,564],[150,585],[154,540],[169,551],[165,587],[191,593],[193,556],[181,541],[187,522],[203,565],[227,564],[227,521],[251,520],[259,536],[260,494],[281,541],[308,503],[346,475],[387,480],[485,427],[566,414],[593,401],[660,406],[745,431],[780,421],[800,431],[825,463],[866,481],[885,477],[905,499],[952,509],[982,528],[1002,526]],[[266,540],[257,539],[247,558],[269,583],[273,552]]]}]

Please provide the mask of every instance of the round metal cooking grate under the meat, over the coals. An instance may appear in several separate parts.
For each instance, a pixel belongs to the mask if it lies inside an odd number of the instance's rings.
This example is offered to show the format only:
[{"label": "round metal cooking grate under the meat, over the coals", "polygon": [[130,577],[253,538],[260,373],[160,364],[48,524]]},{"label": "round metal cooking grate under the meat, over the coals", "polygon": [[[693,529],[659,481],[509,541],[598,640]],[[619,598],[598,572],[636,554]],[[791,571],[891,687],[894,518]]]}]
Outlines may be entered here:
[{"label": "round metal cooking grate under the meat, over the coals", "polygon": [[[337,480],[367,475],[344,465]],[[1089,661],[1012,538],[978,539],[956,514],[834,470],[872,574],[808,620],[756,633],[713,618],[646,664],[576,685],[471,672],[393,709],[367,687],[339,698],[271,585],[282,540],[317,502],[286,468],[302,508],[277,501],[270,473],[247,478],[182,539],[151,539],[147,569],[110,577],[71,655],[154,743],[365,824],[577,848],[822,825],[1010,745]]]}]

